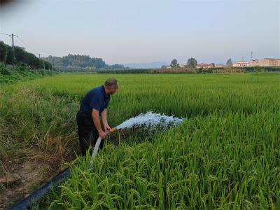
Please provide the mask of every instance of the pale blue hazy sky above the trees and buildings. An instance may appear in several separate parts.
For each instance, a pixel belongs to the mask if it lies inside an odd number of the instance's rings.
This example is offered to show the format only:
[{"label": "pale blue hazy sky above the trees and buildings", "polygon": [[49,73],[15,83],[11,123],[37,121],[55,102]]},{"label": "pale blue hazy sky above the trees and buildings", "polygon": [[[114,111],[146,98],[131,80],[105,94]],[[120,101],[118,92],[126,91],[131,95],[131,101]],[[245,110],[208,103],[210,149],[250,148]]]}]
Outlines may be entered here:
[{"label": "pale blue hazy sky above the trees and buildings", "polygon": [[280,1],[22,0],[1,6],[0,33],[37,56],[107,64],[280,58]]}]

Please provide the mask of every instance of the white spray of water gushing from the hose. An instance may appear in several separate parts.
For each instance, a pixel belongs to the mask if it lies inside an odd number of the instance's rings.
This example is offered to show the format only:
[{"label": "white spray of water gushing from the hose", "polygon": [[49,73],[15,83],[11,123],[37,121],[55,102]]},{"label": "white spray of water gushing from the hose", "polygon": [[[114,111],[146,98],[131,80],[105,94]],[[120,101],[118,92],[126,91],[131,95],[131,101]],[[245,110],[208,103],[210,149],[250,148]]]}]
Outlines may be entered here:
[{"label": "white spray of water gushing from the hose", "polygon": [[141,113],[135,118],[126,120],[125,122],[117,126],[117,130],[141,126],[150,128],[151,130],[157,127],[161,127],[163,130],[165,130],[169,125],[174,126],[178,125],[179,123],[183,123],[183,120],[183,118],[176,118],[174,116],[166,116],[165,114],[153,113],[152,111],[148,111],[146,114]]}]

